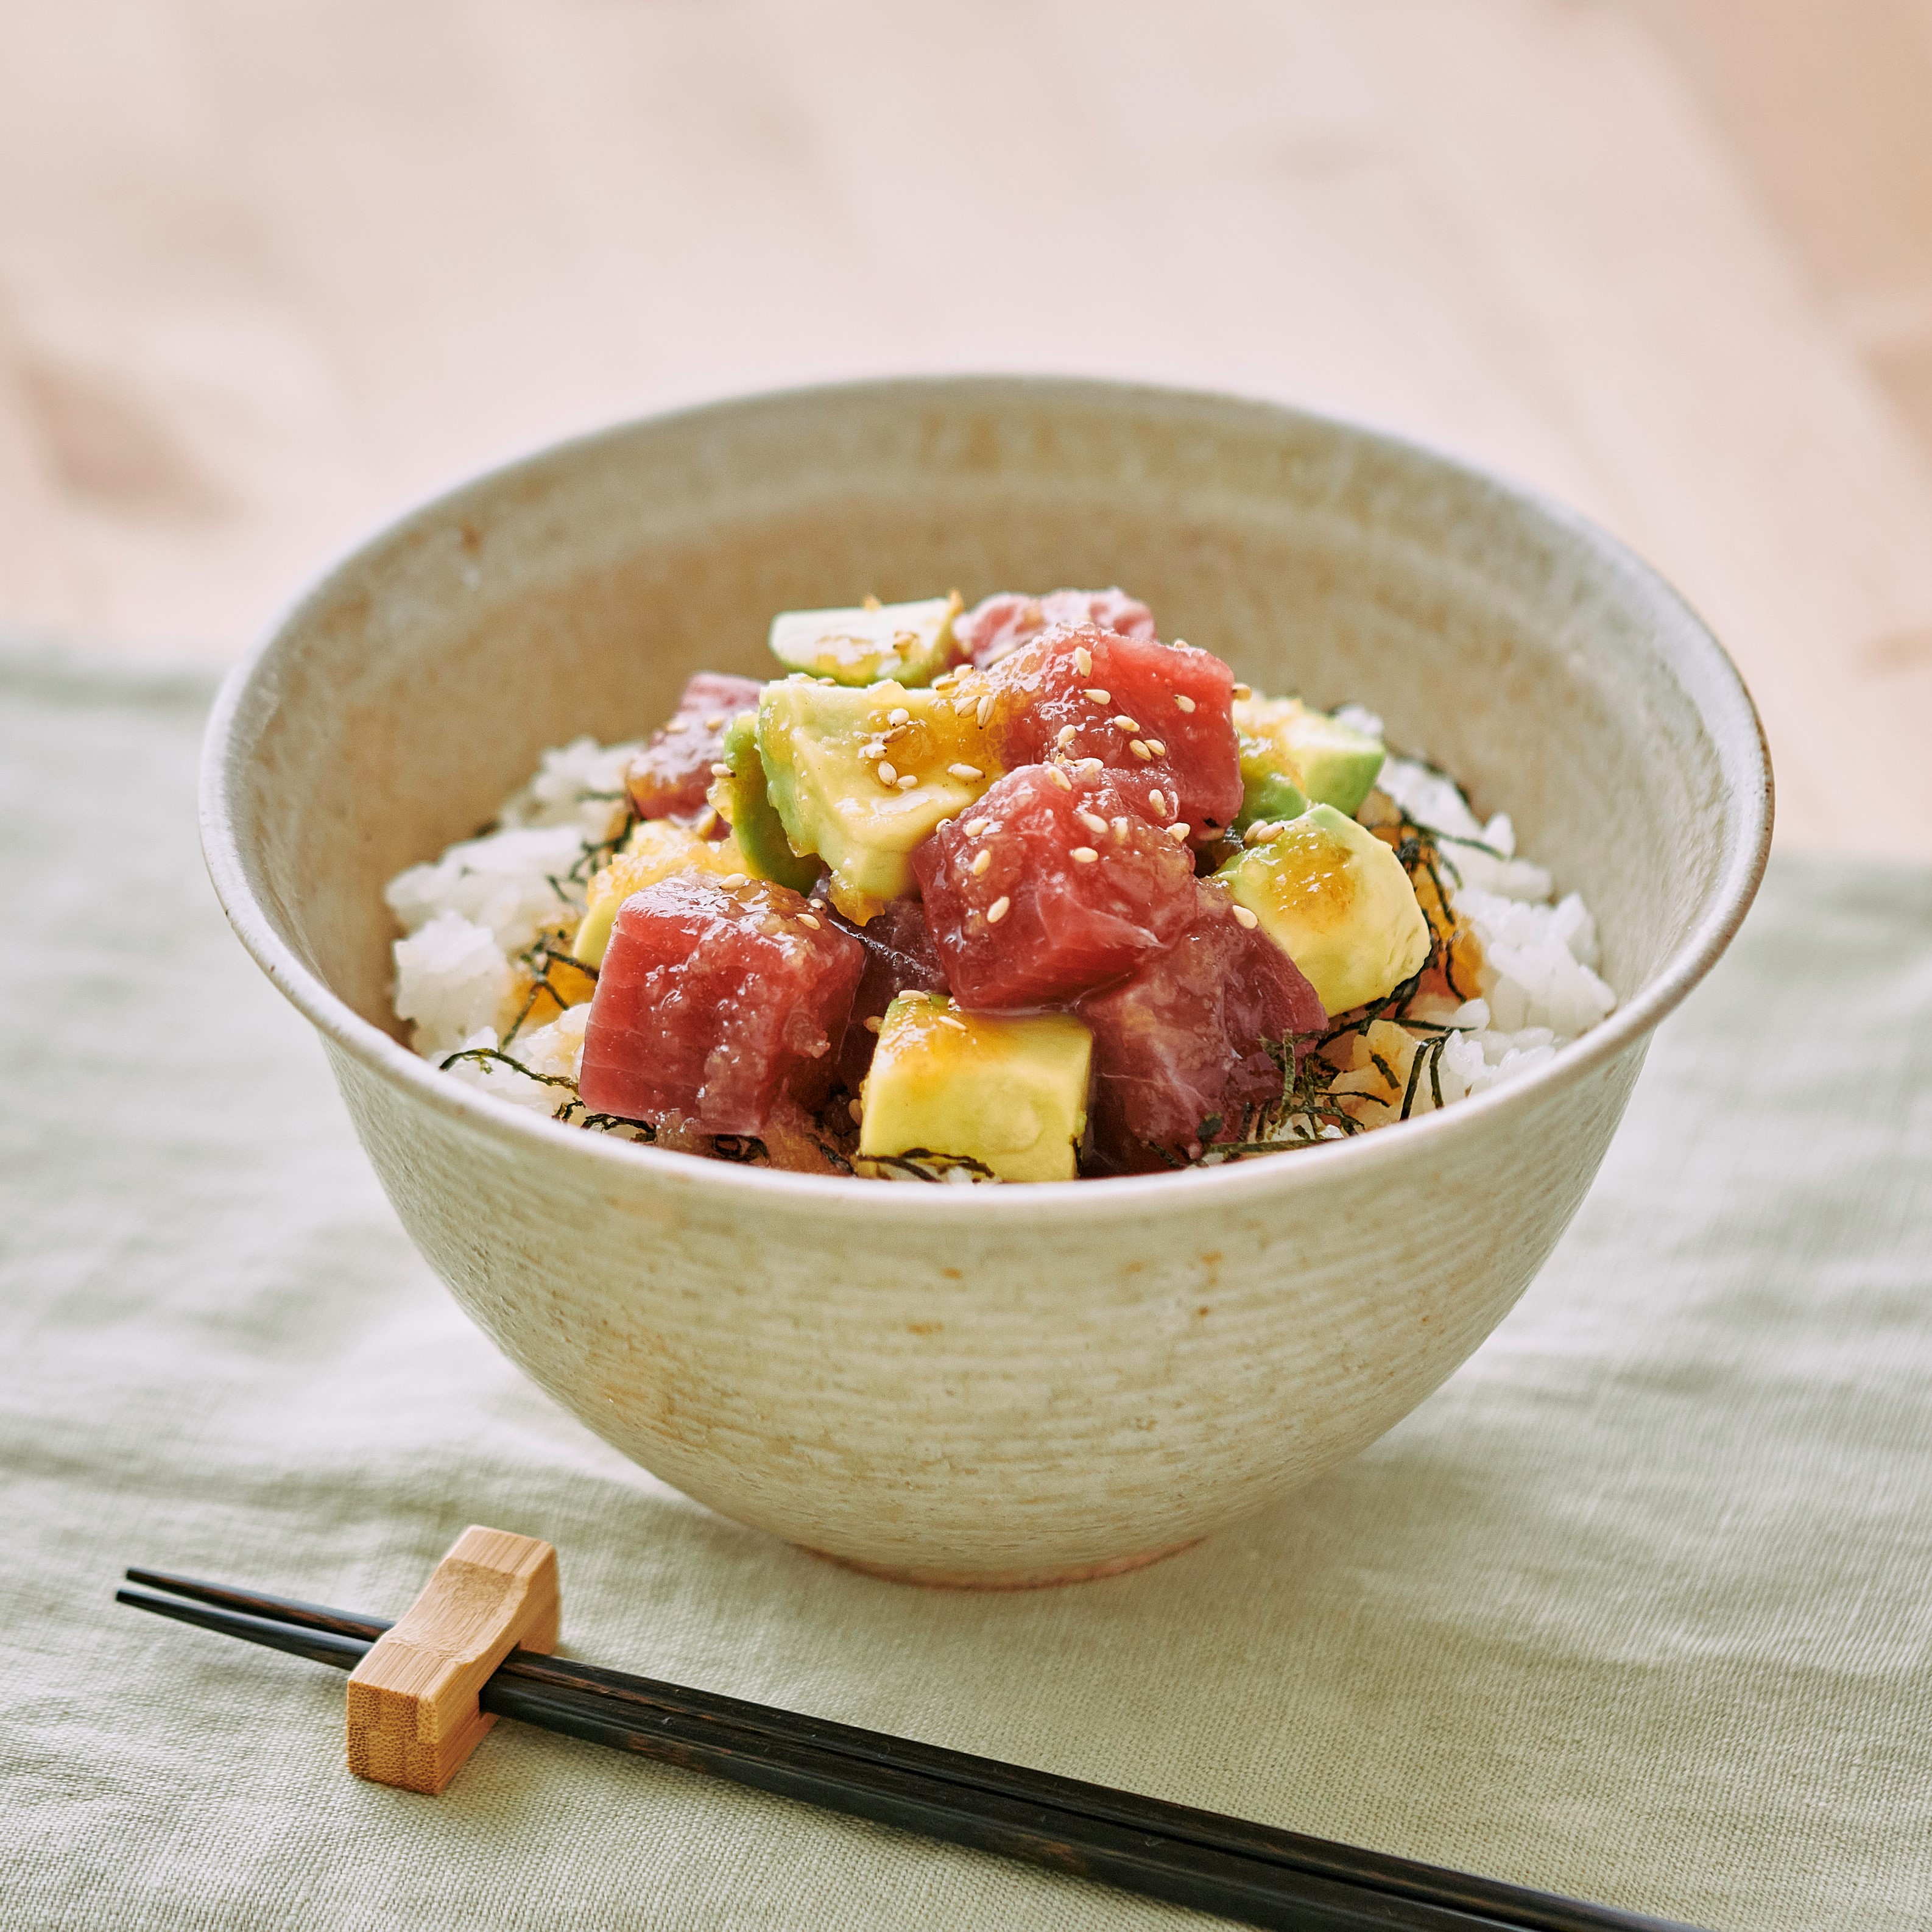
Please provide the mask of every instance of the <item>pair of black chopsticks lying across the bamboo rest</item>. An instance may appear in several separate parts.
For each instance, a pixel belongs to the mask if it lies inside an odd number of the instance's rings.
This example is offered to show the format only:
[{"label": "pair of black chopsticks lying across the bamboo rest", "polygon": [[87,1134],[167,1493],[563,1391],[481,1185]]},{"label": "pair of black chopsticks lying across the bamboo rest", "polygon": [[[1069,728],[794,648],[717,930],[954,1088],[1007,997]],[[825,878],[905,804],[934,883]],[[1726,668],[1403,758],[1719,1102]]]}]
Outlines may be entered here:
[{"label": "pair of black chopsticks lying across the bamboo rest", "polygon": [[[162,1571],[128,1577],[214,1607],[120,1592],[124,1604],[340,1669],[354,1669],[388,1629],[377,1617]],[[527,1652],[502,1663],[483,1708],[1254,1924],[1683,1932],[1611,1907]]]}]

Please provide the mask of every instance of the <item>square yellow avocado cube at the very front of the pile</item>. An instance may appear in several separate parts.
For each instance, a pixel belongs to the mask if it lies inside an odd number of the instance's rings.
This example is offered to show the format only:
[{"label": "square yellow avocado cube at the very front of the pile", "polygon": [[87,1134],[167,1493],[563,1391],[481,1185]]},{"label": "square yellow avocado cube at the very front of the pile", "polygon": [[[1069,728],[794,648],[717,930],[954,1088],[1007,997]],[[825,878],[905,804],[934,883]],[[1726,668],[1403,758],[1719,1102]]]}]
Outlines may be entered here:
[{"label": "square yellow avocado cube at the very front of the pile", "polygon": [[860,1095],[860,1159],[947,1153],[1001,1180],[1072,1180],[1092,1059],[1070,1012],[962,1012],[900,993]]}]

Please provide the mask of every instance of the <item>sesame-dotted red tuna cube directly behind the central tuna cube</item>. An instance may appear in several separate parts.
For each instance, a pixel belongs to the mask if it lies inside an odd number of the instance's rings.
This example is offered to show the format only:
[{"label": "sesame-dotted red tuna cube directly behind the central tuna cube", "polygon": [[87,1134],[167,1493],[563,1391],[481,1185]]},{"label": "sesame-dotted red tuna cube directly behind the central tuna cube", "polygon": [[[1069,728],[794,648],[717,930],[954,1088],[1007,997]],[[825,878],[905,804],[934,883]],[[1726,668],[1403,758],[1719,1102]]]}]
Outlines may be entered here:
[{"label": "sesame-dotted red tuna cube directly behind the central tuna cube", "polygon": [[1097,757],[1136,810],[1184,821],[1194,844],[1240,811],[1235,674],[1211,651],[1094,626],[1043,630],[978,676],[999,694],[1009,765]]}]

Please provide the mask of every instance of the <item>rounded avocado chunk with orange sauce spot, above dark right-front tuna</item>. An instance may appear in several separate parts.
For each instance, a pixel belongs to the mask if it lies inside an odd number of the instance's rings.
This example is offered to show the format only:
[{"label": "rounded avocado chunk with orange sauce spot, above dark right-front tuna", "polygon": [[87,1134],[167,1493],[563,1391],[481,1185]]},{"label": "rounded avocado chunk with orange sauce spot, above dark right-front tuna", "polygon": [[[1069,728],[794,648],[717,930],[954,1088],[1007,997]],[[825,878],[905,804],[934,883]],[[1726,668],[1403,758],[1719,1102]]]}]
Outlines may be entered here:
[{"label": "rounded avocado chunk with orange sauce spot, above dark right-front tuna", "polygon": [[1333,806],[1310,806],[1215,877],[1300,966],[1329,1018],[1393,993],[1430,956],[1403,862]]}]

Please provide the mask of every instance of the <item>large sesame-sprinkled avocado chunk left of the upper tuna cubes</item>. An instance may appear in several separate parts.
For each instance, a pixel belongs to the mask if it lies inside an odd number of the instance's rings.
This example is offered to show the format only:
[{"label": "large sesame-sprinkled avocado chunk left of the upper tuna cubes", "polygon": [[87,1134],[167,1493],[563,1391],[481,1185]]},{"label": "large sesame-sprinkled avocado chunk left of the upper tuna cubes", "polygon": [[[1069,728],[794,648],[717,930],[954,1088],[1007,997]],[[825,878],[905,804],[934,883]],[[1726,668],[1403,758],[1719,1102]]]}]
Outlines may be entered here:
[{"label": "large sesame-sprinkled avocado chunk left of the upper tuna cubes", "polygon": [[773,810],[792,850],[831,867],[833,904],[856,925],[914,891],[914,846],[1001,775],[980,709],[893,682],[765,686],[757,753]]}]

